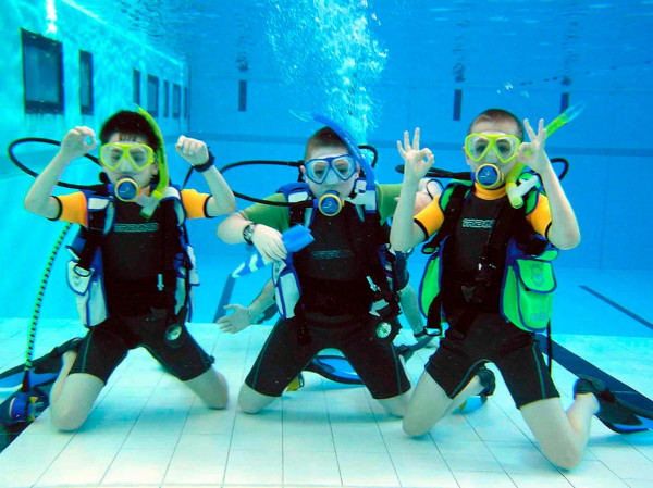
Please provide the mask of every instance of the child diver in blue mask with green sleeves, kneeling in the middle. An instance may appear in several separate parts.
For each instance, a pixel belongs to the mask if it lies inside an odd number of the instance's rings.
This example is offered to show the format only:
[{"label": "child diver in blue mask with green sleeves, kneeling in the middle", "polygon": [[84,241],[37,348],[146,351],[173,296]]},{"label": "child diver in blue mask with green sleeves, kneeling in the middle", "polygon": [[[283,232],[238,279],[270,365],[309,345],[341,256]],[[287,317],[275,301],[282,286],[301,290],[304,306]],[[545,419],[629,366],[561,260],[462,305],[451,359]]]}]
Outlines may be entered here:
[{"label": "child diver in blue mask with green sleeves, kneeling in the middle", "polygon": [[[375,185],[350,137],[333,123],[326,125],[307,142],[299,166],[303,182],[267,198],[272,203],[315,204],[288,210],[257,203],[218,227],[225,242],[248,242],[274,261],[282,315],[241,388],[238,404],[258,413],[281,397],[319,351],[338,349],[372,397],[402,416],[410,381],[392,345],[399,327],[398,298],[385,275],[386,260],[394,256],[385,252],[383,227],[395,209],[399,185]],[[297,223],[310,228],[315,241],[292,253],[281,233]],[[271,300],[263,300],[261,310]],[[381,302],[385,306],[374,310]]]}]

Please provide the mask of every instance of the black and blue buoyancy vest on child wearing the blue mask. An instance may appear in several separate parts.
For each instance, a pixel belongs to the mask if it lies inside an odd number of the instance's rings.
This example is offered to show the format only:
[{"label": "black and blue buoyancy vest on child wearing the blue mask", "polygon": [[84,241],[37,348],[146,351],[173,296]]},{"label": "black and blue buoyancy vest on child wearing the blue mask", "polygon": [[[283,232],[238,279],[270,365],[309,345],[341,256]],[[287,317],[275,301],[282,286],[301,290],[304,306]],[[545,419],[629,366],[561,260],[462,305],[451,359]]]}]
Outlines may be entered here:
[{"label": "black and blue buoyancy vest on child wearing the blue mask", "polygon": [[[356,182],[353,199],[347,199],[341,214],[325,217],[318,214],[317,209],[292,207],[289,209],[291,226],[301,224],[307,228],[313,225],[333,222],[337,238],[346,238],[352,255],[332,255],[331,261],[337,270],[308,270],[312,263],[312,252],[338,252],[329,249],[320,250],[313,242],[297,253],[288,253],[283,261],[275,261],[272,277],[275,287],[276,304],[283,318],[292,318],[303,313],[304,306],[329,306],[349,303],[354,308],[365,303],[367,311],[374,316],[396,316],[399,312],[398,296],[395,290],[394,252],[389,245],[387,226],[382,226],[377,211],[377,193],[365,192],[365,180]],[[312,198],[305,183],[295,183],[281,187],[279,192],[288,202],[300,202]],[[370,195],[372,193],[372,195]],[[370,198],[371,197],[371,198]],[[344,225],[342,225],[343,223]],[[362,225],[361,225],[362,224]],[[337,227],[337,228],[336,228]],[[316,232],[319,232],[317,228]],[[338,234],[340,233],[340,234]],[[328,248],[329,245],[325,246]],[[317,250],[316,250],[317,249]],[[313,254],[315,255],[315,254]],[[342,259],[341,259],[342,258]],[[352,264],[346,266],[343,260]],[[297,272],[297,267],[300,273]],[[334,275],[337,274],[337,276]],[[364,278],[361,279],[361,276]],[[337,279],[334,279],[337,278]],[[362,283],[364,288],[360,289]],[[303,289],[305,285],[305,289]],[[338,286],[341,291],[338,292]],[[354,289],[356,288],[356,289]],[[369,291],[369,292],[368,292]],[[321,303],[316,303],[316,300]],[[371,306],[370,306],[371,303]],[[345,314],[345,310],[333,310],[333,313]]]}]

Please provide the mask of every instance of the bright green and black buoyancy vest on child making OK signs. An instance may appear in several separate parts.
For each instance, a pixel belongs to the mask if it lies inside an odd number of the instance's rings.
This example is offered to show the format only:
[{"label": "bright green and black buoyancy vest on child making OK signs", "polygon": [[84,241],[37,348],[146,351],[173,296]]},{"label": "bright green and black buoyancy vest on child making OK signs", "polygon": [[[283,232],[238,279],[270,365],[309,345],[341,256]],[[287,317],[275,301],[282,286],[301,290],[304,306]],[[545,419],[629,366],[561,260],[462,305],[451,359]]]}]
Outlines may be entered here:
[{"label": "bright green and black buoyancy vest on child making OK signs", "polygon": [[[507,198],[498,202],[488,241],[477,258],[478,271],[460,276],[456,263],[452,263],[452,239],[463,209],[469,204],[471,189],[469,182],[456,180],[447,186],[440,199],[444,222],[422,248],[422,252],[431,254],[420,284],[420,309],[427,316],[427,327],[439,328],[447,305],[456,299],[459,304],[461,298],[471,311],[467,322],[475,311],[497,310],[525,330],[546,328],[556,288],[552,261],[558,251],[526,221],[537,205],[540,188],[527,193],[521,209],[513,209]],[[460,248],[458,251],[466,252]],[[468,325],[463,324],[461,328]]]}]

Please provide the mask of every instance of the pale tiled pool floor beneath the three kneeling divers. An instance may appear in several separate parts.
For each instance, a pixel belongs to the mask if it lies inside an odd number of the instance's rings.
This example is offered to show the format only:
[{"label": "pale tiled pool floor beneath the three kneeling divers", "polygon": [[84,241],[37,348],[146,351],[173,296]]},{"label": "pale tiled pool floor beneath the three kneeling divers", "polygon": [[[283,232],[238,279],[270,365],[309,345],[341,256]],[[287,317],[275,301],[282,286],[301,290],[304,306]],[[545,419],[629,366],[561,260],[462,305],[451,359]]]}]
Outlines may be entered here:
[{"label": "pale tiled pool floor beneath the three kneeling divers", "polygon": [[[653,331],[578,288],[590,286],[653,322],[645,273],[558,276],[555,340],[653,397]],[[0,371],[21,363],[27,326],[25,318],[0,321]],[[418,439],[406,437],[364,388],[311,373],[304,388],[264,413],[236,412],[239,385],[270,328],[236,336],[211,324],[190,329],[227,377],[233,400],[225,411],[204,408],[147,353],[134,351],[78,431],[54,431],[46,411],[0,453],[0,487],[653,487],[653,434],[619,436],[594,422],[580,466],[557,470],[501,379],[483,408],[453,414]],[[37,355],[82,331],[72,321],[41,321]],[[430,353],[409,361],[414,380]],[[554,365],[554,379],[569,404],[575,377]],[[0,390],[0,400],[9,393]]]}]

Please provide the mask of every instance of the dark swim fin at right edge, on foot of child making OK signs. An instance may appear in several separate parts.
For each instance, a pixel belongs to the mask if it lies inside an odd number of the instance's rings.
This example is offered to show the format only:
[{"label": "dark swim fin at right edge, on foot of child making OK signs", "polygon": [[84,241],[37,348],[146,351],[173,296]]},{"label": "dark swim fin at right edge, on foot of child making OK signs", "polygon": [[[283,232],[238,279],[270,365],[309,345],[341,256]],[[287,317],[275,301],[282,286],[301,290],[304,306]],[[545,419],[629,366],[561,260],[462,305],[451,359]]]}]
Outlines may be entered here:
[{"label": "dark swim fin at right edge, on foot of child making OK signs", "polygon": [[[574,385],[574,398],[577,395],[593,393],[599,401],[599,412],[595,415],[607,428],[619,434],[648,430],[630,409],[619,403],[601,379],[593,376],[578,376],[579,379]],[[637,428],[638,426],[642,427]]]}]

